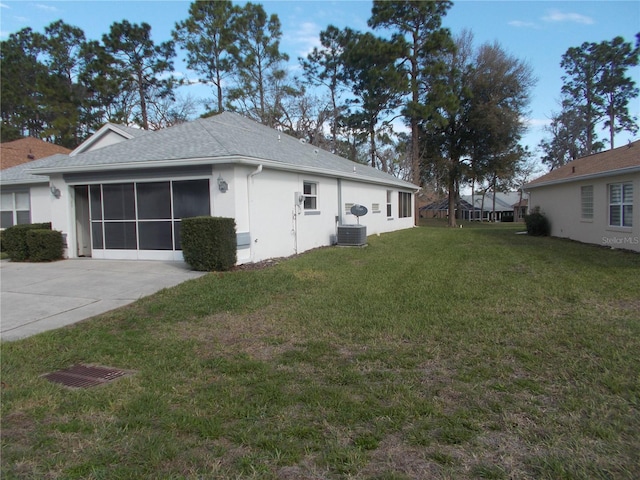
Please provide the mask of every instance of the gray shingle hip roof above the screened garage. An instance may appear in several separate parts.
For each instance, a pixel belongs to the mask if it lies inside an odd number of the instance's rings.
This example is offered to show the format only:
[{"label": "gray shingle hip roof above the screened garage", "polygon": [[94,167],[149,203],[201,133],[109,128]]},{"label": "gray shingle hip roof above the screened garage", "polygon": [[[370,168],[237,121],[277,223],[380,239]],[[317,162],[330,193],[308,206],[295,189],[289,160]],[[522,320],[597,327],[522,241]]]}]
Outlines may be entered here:
[{"label": "gray shingle hip roof above the screened garage", "polygon": [[144,168],[149,162],[154,166],[158,166],[156,162],[206,164],[212,160],[227,160],[232,163],[238,159],[255,160],[256,163],[264,160],[274,168],[317,171],[417,189],[380,170],[303,144],[294,137],[231,112],[149,132],[74,157],[60,158],[43,165],[41,172]]}]

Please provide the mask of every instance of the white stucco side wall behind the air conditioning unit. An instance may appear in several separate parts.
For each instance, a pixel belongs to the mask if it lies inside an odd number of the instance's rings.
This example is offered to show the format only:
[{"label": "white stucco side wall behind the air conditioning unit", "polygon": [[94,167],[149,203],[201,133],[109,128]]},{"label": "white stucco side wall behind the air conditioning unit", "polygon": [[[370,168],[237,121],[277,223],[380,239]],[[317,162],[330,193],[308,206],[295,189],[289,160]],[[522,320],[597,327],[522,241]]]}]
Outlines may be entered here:
[{"label": "white stucco side wall behind the air conditioning unit", "polygon": [[[237,188],[244,190],[247,195],[236,196],[236,224],[241,232],[247,231],[250,223],[248,231],[251,235],[250,251],[238,252],[239,263],[290,256],[330,245],[332,235],[336,234],[336,218],[340,217],[341,209],[342,224],[357,223],[356,217],[344,214],[347,203],[359,203],[369,210],[367,215],[360,218],[360,224],[367,226],[368,235],[414,225],[413,215],[397,218],[398,190],[393,187],[267,168],[253,176],[249,174],[255,169],[239,167],[238,170]],[[317,185],[315,210],[305,210],[296,203],[296,192],[303,192],[304,182]],[[232,188],[234,186],[230,185],[230,190]],[[386,215],[388,189],[393,192],[391,218]],[[339,204],[340,198],[342,205]],[[246,199],[250,206],[245,209],[241,205]],[[373,203],[379,204],[379,213],[372,213]]]}]

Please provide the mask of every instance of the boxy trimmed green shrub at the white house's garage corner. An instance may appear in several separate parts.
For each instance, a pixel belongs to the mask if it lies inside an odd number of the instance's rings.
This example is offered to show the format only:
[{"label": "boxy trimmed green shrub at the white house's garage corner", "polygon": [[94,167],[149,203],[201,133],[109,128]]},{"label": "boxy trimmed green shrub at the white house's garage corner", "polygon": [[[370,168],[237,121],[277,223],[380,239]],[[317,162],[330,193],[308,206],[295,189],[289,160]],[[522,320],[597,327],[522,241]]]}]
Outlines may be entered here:
[{"label": "boxy trimmed green shrub at the white house's garage corner", "polygon": [[180,229],[184,261],[198,271],[230,270],[237,261],[233,218],[183,218]]}]

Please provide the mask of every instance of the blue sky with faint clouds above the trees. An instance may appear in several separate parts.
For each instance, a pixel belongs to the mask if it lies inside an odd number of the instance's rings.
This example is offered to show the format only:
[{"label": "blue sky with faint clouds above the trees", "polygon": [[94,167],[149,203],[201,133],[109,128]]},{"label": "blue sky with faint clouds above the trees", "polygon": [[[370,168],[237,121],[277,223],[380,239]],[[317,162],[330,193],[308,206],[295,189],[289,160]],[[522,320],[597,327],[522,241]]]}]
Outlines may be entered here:
[{"label": "blue sky with faint clouds above the trees", "polygon": [[[87,38],[100,39],[113,22],[127,19],[149,23],[154,40],[160,42],[169,39],[175,23],[187,17],[190,3],[190,0],[0,0],[0,38],[5,39],[24,27],[42,32],[46,25],[62,19],[82,28]],[[261,3],[267,13],[275,13],[280,18],[281,50],[291,57],[292,69],[297,68],[298,57],[305,56],[319,44],[319,33],[328,25],[367,30],[372,5],[371,1],[361,0],[255,0],[254,3]],[[545,136],[543,126],[548,123],[551,113],[558,110],[562,54],[584,42],[601,42],[616,36],[634,42],[635,34],[640,32],[640,2],[459,0],[454,1],[444,25],[454,34],[465,28],[471,30],[477,45],[497,41],[509,53],[532,66],[538,82],[533,90],[528,119],[530,129],[524,143],[535,151]],[[183,57],[179,55],[180,59]],[[193,76],[179,61],[176,70]],[[630,73],[640,86],[640,67]],[[210,96],[206,91],[193,95]],[[631,105],[631,111],[640,117],[638,99]],[[606,132],[599,135],[608,138]],[[616,145],[637,138],[638,134],[635,138],[621,134],[616,138]]]}]

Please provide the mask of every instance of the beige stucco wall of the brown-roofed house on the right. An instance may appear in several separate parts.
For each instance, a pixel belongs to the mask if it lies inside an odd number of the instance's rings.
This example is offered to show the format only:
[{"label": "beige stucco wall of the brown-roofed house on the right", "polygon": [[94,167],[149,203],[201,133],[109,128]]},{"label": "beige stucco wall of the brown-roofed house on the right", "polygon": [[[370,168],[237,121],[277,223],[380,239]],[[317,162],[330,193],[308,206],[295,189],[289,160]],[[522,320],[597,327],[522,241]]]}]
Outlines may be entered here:
[{"label": "beige stucco wall of the brown-roofed house on the right", "polygon": [[[633,182],[633,226],[609,226],[611,183]],[[593,185],[593,219],[581,218],[583,186]],[[540,207],[551,222],[551,235],[585,243],[640,252],[640,174],[567,182],[531,189],[529,211]]]}]

